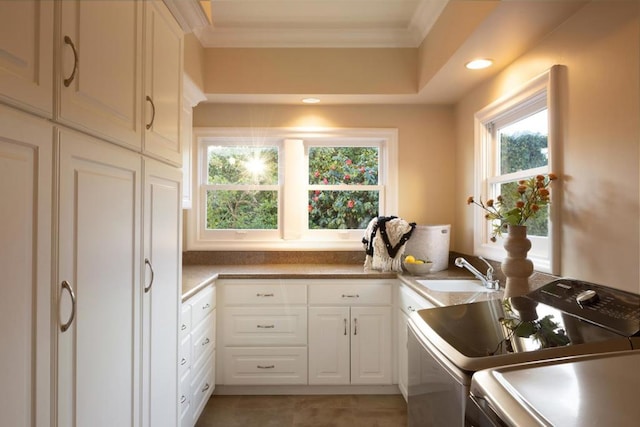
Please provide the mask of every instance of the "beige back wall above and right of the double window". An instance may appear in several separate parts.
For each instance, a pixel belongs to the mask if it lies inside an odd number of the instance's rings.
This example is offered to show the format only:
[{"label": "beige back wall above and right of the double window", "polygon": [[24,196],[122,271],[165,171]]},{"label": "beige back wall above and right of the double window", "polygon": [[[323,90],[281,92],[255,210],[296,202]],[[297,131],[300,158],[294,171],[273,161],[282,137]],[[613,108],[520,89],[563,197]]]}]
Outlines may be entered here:
[{"label": "beige back wall above and right of the double window", "polygon": [[194,126],[397,128],[399,208],[389,213],[419,224],[449,224],[454,216],[450,107],[201,104]]}]

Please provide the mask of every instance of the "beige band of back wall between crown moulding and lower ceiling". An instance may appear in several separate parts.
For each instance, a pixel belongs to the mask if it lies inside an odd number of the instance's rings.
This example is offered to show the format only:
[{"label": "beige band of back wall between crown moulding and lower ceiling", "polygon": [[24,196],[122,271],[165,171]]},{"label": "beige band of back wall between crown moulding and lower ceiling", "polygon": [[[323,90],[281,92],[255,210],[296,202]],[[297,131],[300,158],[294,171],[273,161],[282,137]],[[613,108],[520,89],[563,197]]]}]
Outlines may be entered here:
[{"label": "beige band of back wall between crown moulding and lower ceiling", "polygon": [[205,92],[401,94],[417,91],[416,49],[206,49]]}]

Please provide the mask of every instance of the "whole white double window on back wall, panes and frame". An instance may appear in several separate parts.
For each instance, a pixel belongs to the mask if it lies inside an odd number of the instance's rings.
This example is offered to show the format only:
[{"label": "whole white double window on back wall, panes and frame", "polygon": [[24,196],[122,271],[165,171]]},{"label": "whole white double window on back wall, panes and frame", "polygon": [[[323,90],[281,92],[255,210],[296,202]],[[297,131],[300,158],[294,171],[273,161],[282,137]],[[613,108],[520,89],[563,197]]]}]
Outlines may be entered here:
[{"label": "whole white double window on back wall, panes and frame", "polygon": [[188,249],[361,249],[394,212],[395,130],[196,129]]}]

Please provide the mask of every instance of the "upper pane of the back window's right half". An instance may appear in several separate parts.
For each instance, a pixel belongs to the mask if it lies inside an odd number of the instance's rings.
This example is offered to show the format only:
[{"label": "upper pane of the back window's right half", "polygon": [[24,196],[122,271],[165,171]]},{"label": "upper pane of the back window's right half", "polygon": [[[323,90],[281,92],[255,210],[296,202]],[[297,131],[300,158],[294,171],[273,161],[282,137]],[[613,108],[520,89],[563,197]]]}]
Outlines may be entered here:
[{"label": "upper pane of the back window's right half", "polygon": [[378,184],[377,147],[310,147],[309,184]]}]

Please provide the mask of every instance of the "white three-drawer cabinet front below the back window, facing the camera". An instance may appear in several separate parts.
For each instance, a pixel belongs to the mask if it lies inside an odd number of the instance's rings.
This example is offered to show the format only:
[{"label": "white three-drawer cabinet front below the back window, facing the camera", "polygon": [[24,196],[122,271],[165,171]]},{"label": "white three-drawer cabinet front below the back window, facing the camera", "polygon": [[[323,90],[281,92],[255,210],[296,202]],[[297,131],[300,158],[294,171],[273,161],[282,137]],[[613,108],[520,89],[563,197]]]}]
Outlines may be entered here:
[{"label": "white three-drawer cabinet front below the back window, facing the camera", "polygon": [[220,280],[224,385],[307,384],[307,286]]}]

